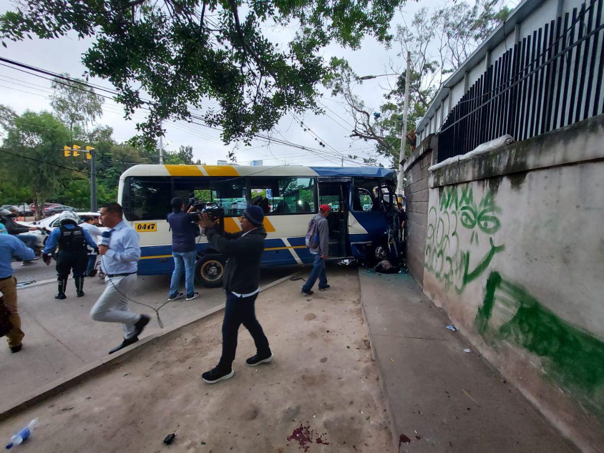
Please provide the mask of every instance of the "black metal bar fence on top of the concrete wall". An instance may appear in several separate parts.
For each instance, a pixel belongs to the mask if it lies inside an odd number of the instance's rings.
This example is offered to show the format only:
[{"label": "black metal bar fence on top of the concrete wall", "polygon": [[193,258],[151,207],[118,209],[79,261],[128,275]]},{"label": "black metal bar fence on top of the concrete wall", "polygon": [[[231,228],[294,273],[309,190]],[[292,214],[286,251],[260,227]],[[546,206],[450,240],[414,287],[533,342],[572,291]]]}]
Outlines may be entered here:
[{"label": "black metal bar fence on top of the concrete wall", "polygon": [[489,66],[442,124],[439,162],[505,134],[526,140],[603,113],[603,2],[545,24]]}]

